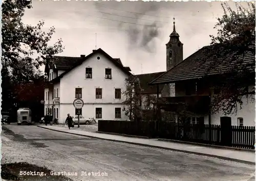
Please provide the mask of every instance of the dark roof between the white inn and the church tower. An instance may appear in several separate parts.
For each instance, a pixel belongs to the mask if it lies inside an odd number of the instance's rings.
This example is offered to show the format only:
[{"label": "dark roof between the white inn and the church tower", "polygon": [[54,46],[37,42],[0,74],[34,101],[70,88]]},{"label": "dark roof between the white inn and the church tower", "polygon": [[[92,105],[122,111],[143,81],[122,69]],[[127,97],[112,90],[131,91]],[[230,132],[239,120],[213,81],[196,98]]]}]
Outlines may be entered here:
[{"label": "dark roof between the white inn and the church tower", "polygon": [[[140,80],[140,86],[142,88],[142,94],[157,94],[157,85],[148,85],[151,81],[159,77],[165,72],[156,72],[151,74],[135,75]],[[159,86],[159,93],[162,92],[164,85]]]}]

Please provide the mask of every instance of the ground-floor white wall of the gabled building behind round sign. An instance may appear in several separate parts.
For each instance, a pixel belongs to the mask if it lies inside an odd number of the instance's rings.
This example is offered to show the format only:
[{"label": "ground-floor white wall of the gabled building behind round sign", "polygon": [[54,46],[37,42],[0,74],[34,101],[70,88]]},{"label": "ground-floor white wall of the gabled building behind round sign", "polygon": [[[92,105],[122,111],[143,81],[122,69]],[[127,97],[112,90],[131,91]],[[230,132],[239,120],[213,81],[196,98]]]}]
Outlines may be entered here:
[{"label": "ground-floor white wall of the gabled building behind round sign", "polygon": [[[96,107],[102,108],[102,119],[96,119]],[[129,117],[122,112],[121,119],[115,118],[115,107],[123,108],[119,104],[85,104],[82,107],[82,116],[85,118],[92,118],[98,122],[98,120],[127,120]],[[73,104],[61,104],[59,111],[59,123],[65,123],[67,115],[75,116],[75,107]]]}]

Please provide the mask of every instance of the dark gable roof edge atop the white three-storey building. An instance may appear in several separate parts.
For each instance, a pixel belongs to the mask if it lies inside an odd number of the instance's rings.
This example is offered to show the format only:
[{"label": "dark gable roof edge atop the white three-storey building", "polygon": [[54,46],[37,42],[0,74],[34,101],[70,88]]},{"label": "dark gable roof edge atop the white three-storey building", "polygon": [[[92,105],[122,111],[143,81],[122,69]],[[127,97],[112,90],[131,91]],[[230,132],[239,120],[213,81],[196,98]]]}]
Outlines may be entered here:
[{"label": "dark gable roof edge atop the white three-storey building", "polygon": [[[117,67],[119,67],[119,69],[121,69],[125,74],[127,75],[132,75],[129,70],[127,70],[127,68],[125,68],[121,62],[121,60],[119,58],[112,58],[109,54],[105,53],[102,49],[98,49],[98,50],[94,50],[93,53],[89,54],[86,57],[72,57],[72,58],[77,58],[77,60],[74,63],[71,63],[72,65],[69,67],[69,69],[64,72],[63,74],[61,74],[60,76],[56,77],[55,79],[51,80],[50,82],[55,82],[60,80],[60,78],[62,78],[63,76],[67,75],[70,71],[72,71],[73,69],[75,69],[75,67],[81,65],[84,61],[88,60],[90,57],[92,57],[93,55],[100,53],[102,55],[104,55],[106,58],[108,58],[110,61],[112,61]],[[69,59],[69,57],[66,57],[65,59]],[[130,69],[130,68],[129,68]]]}]

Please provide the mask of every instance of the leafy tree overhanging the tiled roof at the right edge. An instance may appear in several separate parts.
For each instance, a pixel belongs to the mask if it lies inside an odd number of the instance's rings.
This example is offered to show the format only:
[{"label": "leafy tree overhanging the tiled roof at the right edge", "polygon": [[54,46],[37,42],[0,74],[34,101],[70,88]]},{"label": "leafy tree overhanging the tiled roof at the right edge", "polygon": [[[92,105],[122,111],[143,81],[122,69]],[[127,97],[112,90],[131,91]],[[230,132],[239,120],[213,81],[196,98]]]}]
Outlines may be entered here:
[{"label": "leafy tree overhanging the tiled roof at the right edge", "polygon": [[[224,15],[215,26],[218,34],[210,35],[211,46],[207,53],[214,61],[208,65],[208,70],[228,64],[225,72],[220,70],[218,83],[211,87],[220,90],[211,102],[212,113],[221,110],[227,115],[236,114],[244,104],[243,98],[246,97],[247,102],[254,99],[254,88],[249,87],[255,85],[255,6],[248,3],[246,9],[236,5],[237,10],[233,11],[227,3],[222,4]],[[254,58],[248,60],[248,54]]]}]

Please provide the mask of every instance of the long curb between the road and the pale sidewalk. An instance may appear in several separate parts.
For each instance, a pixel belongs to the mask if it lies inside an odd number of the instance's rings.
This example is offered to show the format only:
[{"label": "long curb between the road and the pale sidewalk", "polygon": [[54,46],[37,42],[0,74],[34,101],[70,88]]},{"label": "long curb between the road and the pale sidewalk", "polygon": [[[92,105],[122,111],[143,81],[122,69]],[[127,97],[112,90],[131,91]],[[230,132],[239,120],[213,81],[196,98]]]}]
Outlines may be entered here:
[{"label": "long curb between the road and the pale sidewalk", "polygon": [[83,135],[83,134],[71,133],[71,132],[66,132],[66,131],[54,130],[54,129],[51,129],[51,128],[46,128],[46,127],[41,127],[41,126],[37,126],[37,127],[40,127],[40,128],[43,128],[43,129],[49,129],[49,130],[57,131],[57,132],[63,132],[63,133],[68,133],[68,134],[80,135],[80,136],[83,136],[83,137],[97,138],[97,139],[100,139],[100,140],[116,141],[116,142],[121,142],[121,143],[128,143],[128,144],[133,144],[133,145],[139,145],[139,146],[147,146],[147,147],[152,147],[152,148],[160,148],[160,149],[165,149],[165,150],[170,150],[170,151],[177,151],[177,152],[196,154],[196,155],[201,155],[201,156],[215,157],[217,159],[233,161],[233,162],[239,162],[239,163],[248,164],[248,165],[255,165],[255,162],[244,161],[244,160],[239,160],[239,159],[231,159],[231,158],[225,157],[225,156],[218,156],[218,155],[213,155],[213,154],[199,153],[199,152],[194,152],[194,151],[178,150],[178,149],[174,149],[174,148],[166,148],[166,147],[161,147],[161,146],[153,146],[153,145],[147,145],[147,144],[142,144],[142,143],[133,143],[133,142],[127,142],[127,141],[120,141],[120,140],[104,139],[104,138],[99,138],[99,137],[93,137],[93,136],[90,136],[90,135]]}]

